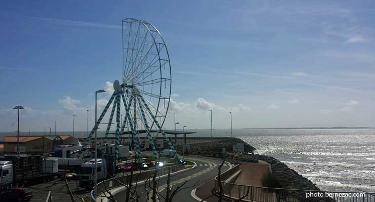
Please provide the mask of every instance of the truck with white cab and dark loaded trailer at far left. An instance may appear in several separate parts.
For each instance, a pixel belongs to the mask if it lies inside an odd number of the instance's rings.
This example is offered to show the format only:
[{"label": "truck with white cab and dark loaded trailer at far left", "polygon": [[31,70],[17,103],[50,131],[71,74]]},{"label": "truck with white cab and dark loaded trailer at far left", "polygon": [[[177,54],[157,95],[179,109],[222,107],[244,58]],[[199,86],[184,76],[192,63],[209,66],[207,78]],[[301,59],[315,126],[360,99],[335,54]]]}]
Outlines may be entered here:
[{"label": "truck with white cab and dark loaded trailer at far left", "polygon": [[[43,161],[44,165],[43,165]],[[46,182],[58,175],[55,160],[40,155],[6,155],[0,158],[0,190]],[[44,166],[44,168],[43,168]]]}]

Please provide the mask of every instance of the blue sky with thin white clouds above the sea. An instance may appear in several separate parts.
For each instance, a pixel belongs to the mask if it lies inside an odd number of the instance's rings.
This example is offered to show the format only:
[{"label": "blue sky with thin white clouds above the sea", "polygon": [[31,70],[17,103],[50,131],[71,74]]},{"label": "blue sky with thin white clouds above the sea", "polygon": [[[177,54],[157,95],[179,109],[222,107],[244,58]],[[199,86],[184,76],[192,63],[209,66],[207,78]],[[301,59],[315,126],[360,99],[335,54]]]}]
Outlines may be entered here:
[{"label": "blue sky with thin white clouds above the sea", "polygon": [[[86,130],[122,76],[121,20],[168,47],[164,128],[375,127],[375,2],[1,1],[0,131]],[[99,111],[110,95],[98,94]],[[181,127],[178,126],[178,127]]]}]

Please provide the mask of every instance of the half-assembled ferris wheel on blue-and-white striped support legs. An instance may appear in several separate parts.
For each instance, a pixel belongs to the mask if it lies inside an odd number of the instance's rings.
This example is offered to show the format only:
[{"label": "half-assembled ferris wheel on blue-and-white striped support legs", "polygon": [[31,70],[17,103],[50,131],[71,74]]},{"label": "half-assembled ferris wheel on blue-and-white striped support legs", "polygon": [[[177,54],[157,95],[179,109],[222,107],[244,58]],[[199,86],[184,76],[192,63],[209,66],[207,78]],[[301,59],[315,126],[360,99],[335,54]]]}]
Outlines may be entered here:
[{"label": "half-assembled ferris wheel on blue-and-white striped support legs", "polygon": [[[122,82],[113,82],[114,92],[97,120],[90,135],[82,145],[88,142],[109,108],[109,117],[104,144],[111,130],[115,116],[115,160],[118,160],[119,143],[123,134],[130,134],[134,150],[142,163],[141,140],[139,135],[146,134],[153,156],[158,156],[154,145],[153,134],[161,134],[170,149],[180,158],[170,140],[162,130],[171,96],[171,64],[169,54],[159,31],[149,22],[126,18],[122,20]],[[120,123],[120,115],[124,120]],[[127,127],[126,127],[127,126]],[[128,133],[124,131],[127,128]],[[104,145],[103,144],[103,145]]]}]

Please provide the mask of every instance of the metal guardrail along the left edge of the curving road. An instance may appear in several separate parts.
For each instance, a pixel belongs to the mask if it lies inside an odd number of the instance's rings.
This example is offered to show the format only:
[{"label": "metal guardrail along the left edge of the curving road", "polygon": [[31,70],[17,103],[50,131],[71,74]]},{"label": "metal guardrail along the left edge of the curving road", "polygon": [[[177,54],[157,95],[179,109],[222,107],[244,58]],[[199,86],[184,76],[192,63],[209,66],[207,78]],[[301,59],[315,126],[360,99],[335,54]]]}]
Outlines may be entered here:
[{"label": "metal guardrail along the left edge of the curving road", "polygon": [[[172,172],[177,172],[180,170],[185,169],[185,164],[180,164],[180,165],[174,165],[174,166],[169,166],[169,167],[162,167],[157,169],[157,177],[172,173]],[[152,178],[153,174],[155,172],[155,169],[152,170],[141,170],[140,172],[133,173],[132,175],[132,182],[138,182],[142,181],[145,179]],[[123,186],[123,184],[127,184],[129,182],[130,174],[128,175],[123,175],[123,176],[118,176],[114,177],[111,179],[104,180],[100,183],[98,183],[98,194],[101,194],[102,191],[113,189],[116,187]]]}]

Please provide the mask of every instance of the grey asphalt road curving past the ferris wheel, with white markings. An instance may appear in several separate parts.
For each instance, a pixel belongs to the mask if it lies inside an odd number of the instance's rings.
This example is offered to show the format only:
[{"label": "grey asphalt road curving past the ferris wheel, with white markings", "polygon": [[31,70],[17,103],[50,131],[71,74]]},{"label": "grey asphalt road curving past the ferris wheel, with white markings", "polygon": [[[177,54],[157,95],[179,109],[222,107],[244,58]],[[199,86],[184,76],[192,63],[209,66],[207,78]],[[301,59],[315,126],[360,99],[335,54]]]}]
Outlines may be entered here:
[{"label": "grey asphalt road curving past the ferris wheel, with white markings", "polygon": [[[174,198],[173,201],[176,202],[193,202],[196,201],[191,195],[191,190],[197,186],[205,183],[206,181],[214,178],[218,174],[218,167],[222,163],[218,159],[209,159],[209,158],[198,158],[198,157],[188,157],[187,160],[193,161],[197,164],[195,168],[188,169],[187,171],[177,173],[171,176],[171,185],[172,189],[175,189],[177,186],[180,186],[183,182],[188,181],[184,187],[187,189],[181,190]],[[222,168],[222,172],[229,169],[229,165],[225,163]],[[162,178],[158,180],[158,192],[165,196],[166,194],[166,184],[167,178]],[[145,202],[147,199],[147,192],[145,192],[144,185],[139,185],[137,187],[137,193],[141,194],[141,202]],[[124,201],[126,196],[126,191],[120,192],[116,195],[116,200]],[[149,196],[150,197],[150,196]],[[164,200],[161,200],[164,201]]]}]

